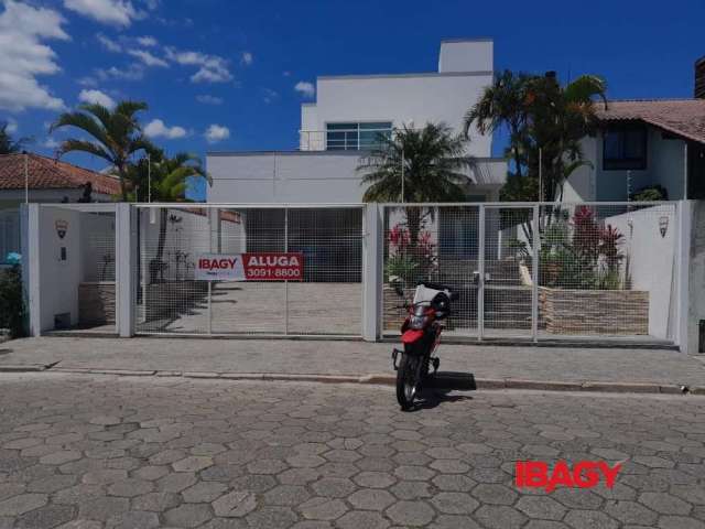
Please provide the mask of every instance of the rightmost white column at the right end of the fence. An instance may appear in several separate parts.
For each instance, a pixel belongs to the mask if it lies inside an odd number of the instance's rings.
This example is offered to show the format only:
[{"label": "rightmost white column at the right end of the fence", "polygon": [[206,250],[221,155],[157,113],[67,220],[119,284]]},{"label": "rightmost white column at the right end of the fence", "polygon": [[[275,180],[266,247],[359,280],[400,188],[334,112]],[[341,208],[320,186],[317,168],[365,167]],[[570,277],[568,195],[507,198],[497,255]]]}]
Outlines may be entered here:
[{"label": "rightmost white column at the right end of the fence", "polygon": [[[688,313],[690,313],[690,255],[691,255],[691,224],[693,208],[690,201],[677,203],[677,293],[675,343],[681,353],[688,353]],[[694,344],[697,347],[696,344]],[[694,353],[691,350],[690,353]]]}]

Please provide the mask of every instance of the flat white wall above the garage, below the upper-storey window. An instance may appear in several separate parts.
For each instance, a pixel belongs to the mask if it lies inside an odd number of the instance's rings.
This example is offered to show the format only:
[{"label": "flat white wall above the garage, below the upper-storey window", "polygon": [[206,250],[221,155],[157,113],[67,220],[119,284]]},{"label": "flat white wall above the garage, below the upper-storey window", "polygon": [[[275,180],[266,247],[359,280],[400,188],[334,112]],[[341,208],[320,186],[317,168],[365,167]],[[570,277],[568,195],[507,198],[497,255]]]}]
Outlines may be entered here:
[{"label": "flat white wall above the garage, below the upper-storey window", "polygon": [[[359,152],[212,153],[207,155],[213,186],[210,203],[357,204],[366,186],[356,171]],[[503,160],[478,160],[470,194],[496,199],[505,182]]]}]

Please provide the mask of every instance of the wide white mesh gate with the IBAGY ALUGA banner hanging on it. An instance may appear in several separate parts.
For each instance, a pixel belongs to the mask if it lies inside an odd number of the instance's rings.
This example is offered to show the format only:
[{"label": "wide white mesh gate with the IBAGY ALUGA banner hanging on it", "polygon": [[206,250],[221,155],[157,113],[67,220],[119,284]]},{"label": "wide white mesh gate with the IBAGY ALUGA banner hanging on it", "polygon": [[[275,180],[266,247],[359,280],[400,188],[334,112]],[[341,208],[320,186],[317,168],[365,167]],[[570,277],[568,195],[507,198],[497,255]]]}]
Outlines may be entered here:
[{"label": "wide white mesh gate with the IBAGY ALUGA banner hanging on it", "polygon": [[[360,336],[362,206],[138,205],[140,334]],[[204,281],[204,255],[295,253],[297,280]],[[272,280],[274,279],[274,280]]]}]

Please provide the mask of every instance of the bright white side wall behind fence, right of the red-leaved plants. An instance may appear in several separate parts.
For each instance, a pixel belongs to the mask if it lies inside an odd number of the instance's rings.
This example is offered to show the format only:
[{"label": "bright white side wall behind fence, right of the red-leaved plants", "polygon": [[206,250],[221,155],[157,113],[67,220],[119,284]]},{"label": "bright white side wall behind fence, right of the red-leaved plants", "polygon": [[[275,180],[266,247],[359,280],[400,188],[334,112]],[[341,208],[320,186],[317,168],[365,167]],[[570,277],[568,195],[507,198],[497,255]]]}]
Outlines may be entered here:
[{"label": "bright white side wall behind fence, right of the red-leaved plants", "polygon": [[[659,222],[668,218],[665,236]],[[675,207],[653,206],[605,218],[625,236],[622,253],[629,255],[631,290],[649,292],[649,334],[673,338],[675,333]],[[622,262],[623,264],[623,262]]]}]

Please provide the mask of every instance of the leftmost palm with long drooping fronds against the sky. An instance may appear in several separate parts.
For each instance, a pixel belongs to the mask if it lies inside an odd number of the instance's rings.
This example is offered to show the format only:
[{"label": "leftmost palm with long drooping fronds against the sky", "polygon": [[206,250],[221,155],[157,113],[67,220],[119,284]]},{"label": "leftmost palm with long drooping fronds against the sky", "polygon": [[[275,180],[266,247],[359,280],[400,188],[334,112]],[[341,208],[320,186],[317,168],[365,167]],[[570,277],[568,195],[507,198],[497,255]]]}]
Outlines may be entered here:
[{"label": "leftmost palm with long drooping fronds against the sky", "polygon": [[68,139],[58,148],[58,155],[67,152],[87,152],[105,160],[120,179],[122,201],[128,201],[128,171],[135,153],[153,149],[142,134],[137,112],[147,110],[145,102],[120,101],[113,110],[99,104],[87,104],[73,112],[62,114],[50,131],[75,127],[87,132],[93,141]]}]

